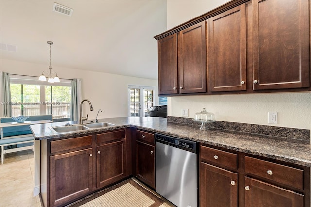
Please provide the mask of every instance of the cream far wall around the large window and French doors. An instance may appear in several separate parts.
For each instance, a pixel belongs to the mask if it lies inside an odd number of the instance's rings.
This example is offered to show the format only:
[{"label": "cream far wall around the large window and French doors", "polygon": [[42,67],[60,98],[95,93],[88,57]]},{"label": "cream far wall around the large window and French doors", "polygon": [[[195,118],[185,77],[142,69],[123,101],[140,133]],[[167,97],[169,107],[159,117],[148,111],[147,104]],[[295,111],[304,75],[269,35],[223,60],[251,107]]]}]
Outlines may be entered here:
[{"label": "cream far wall around the large window and French doors", "polygon": [[[39,76],[43,70],[48,69],[48,65],[1,59],[0,69],[12,74]],[[128,85],[154,86],[155,104],[158,104],[157,80],[70,69],[53,65],[52,71],[57,72],[59,78],[82,79],[82,99],[89,99],[94,107],[94,111],[89,111],[87,104],[84,104],[83,116],[89,113],[89,119],[95,119],[99,109],[102,109],[103,112],[99,113],[98,118],[127,117]]]}]

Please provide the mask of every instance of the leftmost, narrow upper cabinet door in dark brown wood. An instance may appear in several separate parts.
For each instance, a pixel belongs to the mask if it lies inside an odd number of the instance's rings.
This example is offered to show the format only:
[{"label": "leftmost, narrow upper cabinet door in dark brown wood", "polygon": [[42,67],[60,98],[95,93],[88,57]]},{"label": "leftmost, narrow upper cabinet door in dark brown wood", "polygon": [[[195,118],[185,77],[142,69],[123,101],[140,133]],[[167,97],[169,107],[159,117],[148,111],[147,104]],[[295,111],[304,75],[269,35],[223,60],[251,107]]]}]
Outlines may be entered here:
[{"label": "leftmost, narrow upper cabinet door in dark brown wood", "polygon": [[177,34],[158,41],[159,94],[178,93]]}]

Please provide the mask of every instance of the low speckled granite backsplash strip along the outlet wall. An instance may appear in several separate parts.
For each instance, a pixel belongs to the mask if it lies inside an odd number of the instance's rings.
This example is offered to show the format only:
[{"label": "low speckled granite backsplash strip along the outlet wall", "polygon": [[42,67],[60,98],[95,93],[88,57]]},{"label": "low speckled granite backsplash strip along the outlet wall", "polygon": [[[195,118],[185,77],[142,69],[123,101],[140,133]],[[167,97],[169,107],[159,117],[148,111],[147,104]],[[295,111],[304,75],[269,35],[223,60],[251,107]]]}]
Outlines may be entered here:
[{"label": "low speckled granite backsplash strip along the outlet wall", "polygon": [[[191,118],[167,116],[168,122],[183,123],[190,125],[201,125]],[[208,123],[208,127],[216,129],[233,130],[239,132],[246,132],[259,135],[268,135],[280,138],[293,138],[299,140],[310,141],[310,130],[308,129],[295,129],[277,126],[266,126],[248,123],[235,123],[227,121],[216,121]]]}]

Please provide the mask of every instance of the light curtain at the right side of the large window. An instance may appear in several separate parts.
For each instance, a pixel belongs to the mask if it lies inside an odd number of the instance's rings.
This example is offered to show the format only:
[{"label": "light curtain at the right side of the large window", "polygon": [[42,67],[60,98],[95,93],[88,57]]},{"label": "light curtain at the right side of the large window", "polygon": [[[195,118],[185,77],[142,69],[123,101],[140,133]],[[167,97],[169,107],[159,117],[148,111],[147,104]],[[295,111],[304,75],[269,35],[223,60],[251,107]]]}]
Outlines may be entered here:
[{"label": "light curtain at the right side of the large window", "polygon": [[71,121],[78,120],[81,101],[81,79],[74,78],[71,85]]}]

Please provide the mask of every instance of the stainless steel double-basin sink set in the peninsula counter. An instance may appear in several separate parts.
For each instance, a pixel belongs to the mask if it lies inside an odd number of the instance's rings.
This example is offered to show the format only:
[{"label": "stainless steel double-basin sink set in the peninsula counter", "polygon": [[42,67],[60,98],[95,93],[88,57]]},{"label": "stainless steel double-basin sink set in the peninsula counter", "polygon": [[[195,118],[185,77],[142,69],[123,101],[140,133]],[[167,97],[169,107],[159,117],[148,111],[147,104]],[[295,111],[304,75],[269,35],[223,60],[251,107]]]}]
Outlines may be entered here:
[{"label": "stainless steel double-basin sink set in the peninsula counter", "polygon": [[87,124],[76,124],[76,125],[69,125],[69,126],[54,126],[50,129],[53,133],[68,133],[68,132],[75,132],[80,130],[87,130],[87,129],[97,129],[103,127],[115,126],[115,124],[107,123],[107,122],[100,122],[100,123],[87,123]]}]

